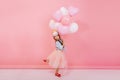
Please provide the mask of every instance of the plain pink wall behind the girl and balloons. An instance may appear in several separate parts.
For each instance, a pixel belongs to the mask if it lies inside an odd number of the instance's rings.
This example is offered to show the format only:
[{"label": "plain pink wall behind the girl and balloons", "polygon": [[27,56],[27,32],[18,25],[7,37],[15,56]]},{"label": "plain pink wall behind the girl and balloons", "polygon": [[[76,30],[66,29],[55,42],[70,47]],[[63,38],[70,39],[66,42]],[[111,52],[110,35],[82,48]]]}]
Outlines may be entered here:
[{"label": "plain pink wall behind the girl and balloons", "polygon": [[0,0],[0,68],[47,68],[48,27],[61,6],[80,9],[77,33],[63,36],[72,68],[120,68],[119,0]]}]

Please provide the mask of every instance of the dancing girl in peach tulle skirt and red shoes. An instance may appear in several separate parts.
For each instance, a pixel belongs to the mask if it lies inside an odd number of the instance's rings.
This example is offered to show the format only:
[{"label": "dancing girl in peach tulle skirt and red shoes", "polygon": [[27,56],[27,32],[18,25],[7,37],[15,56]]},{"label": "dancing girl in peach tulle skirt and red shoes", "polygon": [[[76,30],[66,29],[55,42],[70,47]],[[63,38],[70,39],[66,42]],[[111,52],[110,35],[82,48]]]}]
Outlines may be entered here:
[{"label": "dancing girl in peach tulle skirt and red shoes", "polygon": [[55,76],[61,77],[59,68],[65,68],[67,66],[65,55],[63,53],[64,43],[57,31],[53,32],[53,39],[55,40],[56,49],[43,61],[56,69]]}]

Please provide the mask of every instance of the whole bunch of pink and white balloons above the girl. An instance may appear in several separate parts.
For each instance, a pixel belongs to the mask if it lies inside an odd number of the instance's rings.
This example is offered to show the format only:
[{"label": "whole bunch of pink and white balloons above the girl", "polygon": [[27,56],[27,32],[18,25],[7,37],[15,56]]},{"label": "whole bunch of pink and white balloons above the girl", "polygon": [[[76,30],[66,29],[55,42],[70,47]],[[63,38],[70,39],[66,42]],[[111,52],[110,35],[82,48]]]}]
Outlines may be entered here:
[{"label": "whole bunch of pink and white balloons above the girl", "polygon": [[54,19],[50,20],[49,27],[58,31],[61,35],[74,33],[78,31],[78,24],[72,20],[72,17],[78,13],[78,8],[61,7],[53,15]]}]

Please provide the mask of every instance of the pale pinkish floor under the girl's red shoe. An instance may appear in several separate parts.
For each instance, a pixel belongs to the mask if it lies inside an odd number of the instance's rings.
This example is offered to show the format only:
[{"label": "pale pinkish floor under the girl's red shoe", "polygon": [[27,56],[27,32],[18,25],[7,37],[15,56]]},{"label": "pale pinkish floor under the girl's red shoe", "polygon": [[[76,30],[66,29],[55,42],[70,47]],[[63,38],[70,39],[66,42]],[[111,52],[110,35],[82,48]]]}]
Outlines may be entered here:
[{"label": "pale pinkish floor under the girl's red shoe", "polygon": [[57,78],[49,69],[0,69],[0,80],[120,80],[120,70],[71,69]]}]

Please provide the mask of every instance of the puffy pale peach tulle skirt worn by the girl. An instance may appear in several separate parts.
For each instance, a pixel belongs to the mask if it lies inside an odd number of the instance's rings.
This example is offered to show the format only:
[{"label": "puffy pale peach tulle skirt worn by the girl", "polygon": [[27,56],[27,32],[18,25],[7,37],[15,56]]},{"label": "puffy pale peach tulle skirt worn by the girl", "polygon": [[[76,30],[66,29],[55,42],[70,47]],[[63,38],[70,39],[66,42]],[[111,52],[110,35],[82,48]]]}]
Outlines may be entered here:
[{"label": "puffy pale peach tulle skirt worn by the girl", "polygon": [[65,68],[67,67],[67,61],[63,51],[54,50],[48,57],[48,64],[53,68]]}]

